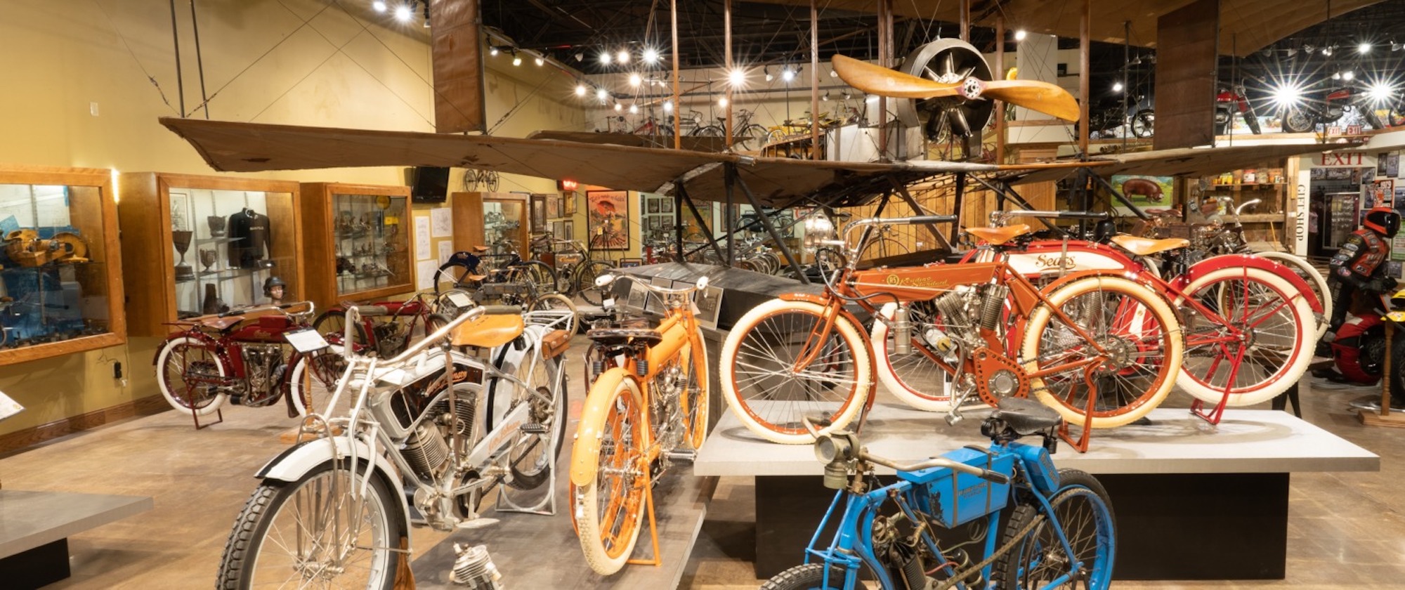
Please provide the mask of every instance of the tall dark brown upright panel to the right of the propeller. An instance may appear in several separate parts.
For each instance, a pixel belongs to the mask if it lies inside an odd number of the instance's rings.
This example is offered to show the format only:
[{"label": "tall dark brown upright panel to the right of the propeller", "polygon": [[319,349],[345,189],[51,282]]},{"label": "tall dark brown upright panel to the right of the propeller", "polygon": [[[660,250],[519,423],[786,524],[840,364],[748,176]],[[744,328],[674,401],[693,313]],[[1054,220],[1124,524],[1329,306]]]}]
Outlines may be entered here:
[{"label": "tall dark brown upright panel to the right of the propeller", "polygon": [[1220,0],[1197,0],[1158,20],[1154,149],[1214,142]]}]

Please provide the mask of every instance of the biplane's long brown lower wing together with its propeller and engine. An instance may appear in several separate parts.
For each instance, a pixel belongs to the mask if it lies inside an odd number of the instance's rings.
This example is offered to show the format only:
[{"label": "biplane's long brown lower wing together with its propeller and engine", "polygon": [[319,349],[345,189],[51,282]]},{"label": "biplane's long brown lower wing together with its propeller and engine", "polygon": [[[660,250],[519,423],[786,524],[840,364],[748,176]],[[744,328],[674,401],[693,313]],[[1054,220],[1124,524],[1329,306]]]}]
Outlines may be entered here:
[{"label": "biplane's long brown lower wing together with its propeller and engine", "polygon": [[[950,45],[951,39],[943,39]],[[960,44],[960,42],[957,42]],[[943,45],[943,46],[947,46]],[[964,44],[962,44],[964,45]],[[1078,104],[1068,91],[1035,80],[991,80],[981,63],[964,67],[922,69],[913,76],[856,59],[835,56],[835,72],[854,88],[885,97],[936,101],[944,125],[960,132],[978,128],[965,121],[969,105],[1000,100],[1066,121],[1078,118]],[[972,58],[967,58],[972,59]],[[978,110],[979,111],[979,110]],[[899,112],[902,115],[902,112]],[[520,139],[482,135],[364,131],[316,126],[267,125],[225,121],[162,118],[160,122],[188,140],[221,171],[303,170],[362,166],[433,166],[495,170],[544,178],[570,178],[582,184],[669,194],[701,222],[694,201],[750,204],[757,211],[791,206],[854,206],[898,198],[922,211],[909,185],[933,177],[955,178],[957,206],[965,190],[988,190],[1028,208],[1014,185],[1051,181],[1079,170],[1090,177],[1111,174],[1207,176],[1255,166],[1263,160],[1312,152],[1322,145],[1235,146],[1220,149],[1170,149],[1092,156],[1076,162],[985,164],[967,162],[830,162],[756,157],[736,153],[587,143],[561,139]],[[984,124],[984,122],[982,122]],[[1110,187],[1107,187],[1110,188]],[[735,198],[738,194],[742,198]],[[1130,205],[1130,202],[1128,202]],[[1132,208],[1135,211],[1135,208]],[[760,218],[785,261],[799,274],[798,258],[780,232]],[[979,221],[978,221],[979,222]],[[939,235],[936,228],[929,228]],[[954,229],[953,229],[954,230]],[[710,230],[711,247],[721,254]],[[681,230],[679,230],[681,253]]]}]

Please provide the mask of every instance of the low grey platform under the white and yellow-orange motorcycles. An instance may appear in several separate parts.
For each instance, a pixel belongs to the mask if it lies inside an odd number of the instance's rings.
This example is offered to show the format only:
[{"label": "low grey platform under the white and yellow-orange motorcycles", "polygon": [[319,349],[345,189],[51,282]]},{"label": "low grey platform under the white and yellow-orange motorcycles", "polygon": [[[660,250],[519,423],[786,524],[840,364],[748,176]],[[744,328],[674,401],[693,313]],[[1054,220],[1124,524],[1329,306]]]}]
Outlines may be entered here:
[{"label": "low grey platform under the white and yellow-orange motorcycles", "polygon": [[[573,428],[572,428],[573,430]],[[556,514],[499,513],[485,503],[483,516],[499,523],[451,534],[410,565],[417,589],[461,589],[450,582],[454,544],[488,545],[493,565],[509,589],[674,589],[683,579],[688,555],[697,542],[717,478],[694,478],[687,464],[676,464],[653,487],[655,518],[659,525],[662,565],[625,565],[614,576],[594,573],[580,551],[570,523],[569,478],[570,438],[558,462]],[[649,530],[639,532],[635,559],[649,559],[653,548]]]}]

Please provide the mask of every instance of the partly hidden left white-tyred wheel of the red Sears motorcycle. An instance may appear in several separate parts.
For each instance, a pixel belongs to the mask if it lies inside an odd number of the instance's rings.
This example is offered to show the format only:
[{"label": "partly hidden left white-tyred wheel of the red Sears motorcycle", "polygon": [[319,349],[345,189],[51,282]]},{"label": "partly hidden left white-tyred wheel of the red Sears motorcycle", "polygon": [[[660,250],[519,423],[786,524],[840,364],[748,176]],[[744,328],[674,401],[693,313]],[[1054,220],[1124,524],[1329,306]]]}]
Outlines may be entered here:
[{"label": "partly hidden left white-tyred wheel of the red Sears motorcycle", "polygon": [[[894,303],[884,305],[880,313],[892,317]],[[871,340],[878,381],[889,393],[912,407],[947,412],[951,409],[950,375],[933,362],[941,353],[936,351],[933,343],[924,337],[929,327],[940,323],[936,305],[927,301],[909,303],[908,316],[913,327],[909,354],[898,354],[888,324],[874,322]]]}]

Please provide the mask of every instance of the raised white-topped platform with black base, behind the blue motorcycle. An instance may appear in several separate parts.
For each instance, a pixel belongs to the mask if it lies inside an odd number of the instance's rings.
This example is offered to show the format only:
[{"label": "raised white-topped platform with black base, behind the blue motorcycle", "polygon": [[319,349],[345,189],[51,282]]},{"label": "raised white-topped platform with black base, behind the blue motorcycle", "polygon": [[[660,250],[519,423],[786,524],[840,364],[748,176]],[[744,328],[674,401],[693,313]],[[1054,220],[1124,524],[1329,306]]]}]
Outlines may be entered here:
[{"label": "raised white-topped platform with black base, behind the blue motorcycle", "polygon": [[[941,414],[877,403],[861,438],[898,461],[984,447],[985,412],[967,412],[948,427]],[[1218,426],[1183,409],[1156,409],[1149,419],[1096,431],[1086,454],[1061,445],[1054,455],[1059,468],[1094,473],[1107,487],[1117,516],[1116,577],[1124,580],[1283,579],[1290,473],[1380,469],[1380,457],[1286,412],[1227,410]],[[763,441],[731,412],[694,464],[700,476],[756,478],[757,577],[802,560],[833,500],[822,471],[811,445]]]}]

